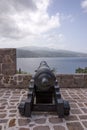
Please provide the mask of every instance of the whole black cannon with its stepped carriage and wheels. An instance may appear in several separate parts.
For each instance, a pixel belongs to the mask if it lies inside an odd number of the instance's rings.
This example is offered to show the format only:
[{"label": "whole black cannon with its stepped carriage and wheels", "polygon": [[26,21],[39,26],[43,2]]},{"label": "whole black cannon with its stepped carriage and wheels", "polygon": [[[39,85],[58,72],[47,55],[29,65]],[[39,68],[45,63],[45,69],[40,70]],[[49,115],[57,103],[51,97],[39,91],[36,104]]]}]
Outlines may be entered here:
[{"label": "whole black cannon with its stepped carriage and wheels", "polygon": [[35,72],[28,87],[27,99],[18,106],[20,114],[30,117],[32,111],[56,111],[59,118],[68,116],[70,105],[61,97],[53,70],[46,61],[42,61]]}]

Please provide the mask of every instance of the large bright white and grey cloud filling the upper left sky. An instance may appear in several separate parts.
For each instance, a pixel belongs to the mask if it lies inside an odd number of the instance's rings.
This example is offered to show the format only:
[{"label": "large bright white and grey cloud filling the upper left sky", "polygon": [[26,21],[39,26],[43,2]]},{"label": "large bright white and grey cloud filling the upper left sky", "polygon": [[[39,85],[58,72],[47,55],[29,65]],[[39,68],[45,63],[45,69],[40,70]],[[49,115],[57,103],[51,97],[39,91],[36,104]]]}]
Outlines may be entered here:
[{"label": "large bright white and grey cloud filling the upper left sky", "polygon": [[50,0],[0,0],[0,37],[23,38],[60,26],[60,15],[49,16]]}]

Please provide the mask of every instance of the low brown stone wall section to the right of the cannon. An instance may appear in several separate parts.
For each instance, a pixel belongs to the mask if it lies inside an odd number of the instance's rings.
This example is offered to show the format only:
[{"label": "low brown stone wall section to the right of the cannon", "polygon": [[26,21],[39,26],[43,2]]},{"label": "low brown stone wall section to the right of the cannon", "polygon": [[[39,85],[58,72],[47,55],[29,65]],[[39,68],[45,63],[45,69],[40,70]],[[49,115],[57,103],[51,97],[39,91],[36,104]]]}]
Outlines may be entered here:
[{"label": "low brown stone wall section to the right of the cannon", "polygon": [[60,74],[57,80],[62,88],[87,88],[87,74]]}]

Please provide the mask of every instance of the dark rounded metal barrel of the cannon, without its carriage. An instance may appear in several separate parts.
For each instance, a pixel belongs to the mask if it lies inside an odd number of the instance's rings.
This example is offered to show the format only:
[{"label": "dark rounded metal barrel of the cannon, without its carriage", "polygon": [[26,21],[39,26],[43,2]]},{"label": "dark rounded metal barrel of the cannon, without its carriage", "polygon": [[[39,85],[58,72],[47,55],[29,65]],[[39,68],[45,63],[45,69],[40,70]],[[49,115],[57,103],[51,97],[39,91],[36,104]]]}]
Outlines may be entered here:
[{"label": "dark rounded metal barrel of the cannon, without its carriage", "polygon": [[36,90],[47,91],[51,89],[55,84],[55,80],[56,77],[46,61],[42,61],[34,76]]}]

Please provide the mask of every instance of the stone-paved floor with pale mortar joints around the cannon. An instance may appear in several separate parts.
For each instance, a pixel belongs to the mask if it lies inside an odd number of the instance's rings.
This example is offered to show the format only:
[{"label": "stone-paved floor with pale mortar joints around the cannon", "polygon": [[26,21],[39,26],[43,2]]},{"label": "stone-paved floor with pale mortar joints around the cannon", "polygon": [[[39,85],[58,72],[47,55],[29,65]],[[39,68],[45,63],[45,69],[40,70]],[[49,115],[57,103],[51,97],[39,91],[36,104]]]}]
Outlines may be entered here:
[{"label": "stone-paved floor with pale mortar joints around the cannon", "polygon": [[61,94],[70,103],[69,117],[33,112],[31,118],[25,118],[20,116],[18,104],[27,90],[0,89],[0,130],[87,130],[87,89],[61,89]]}]

